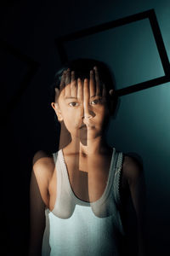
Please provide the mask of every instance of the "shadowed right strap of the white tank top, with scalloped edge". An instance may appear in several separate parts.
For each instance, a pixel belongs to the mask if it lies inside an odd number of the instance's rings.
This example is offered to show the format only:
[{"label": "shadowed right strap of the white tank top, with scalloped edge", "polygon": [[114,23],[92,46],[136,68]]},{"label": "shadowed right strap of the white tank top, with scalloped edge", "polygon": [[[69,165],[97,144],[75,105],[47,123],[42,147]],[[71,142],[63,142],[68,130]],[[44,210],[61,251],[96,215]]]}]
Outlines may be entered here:
[{"label": "shadowed right strap of the white tank top, with scalloped edge", "polygon": [[121,197],[120,197],[120,180],[121,180],[121,174],[122,174],[122,161],[123,161],[123,153],[122,152],[116,152],[116,170],[114,174],[114,181],[113,181],[113,192],[114,197],[116,200],[116,204],[118,206],[121,205]]}]

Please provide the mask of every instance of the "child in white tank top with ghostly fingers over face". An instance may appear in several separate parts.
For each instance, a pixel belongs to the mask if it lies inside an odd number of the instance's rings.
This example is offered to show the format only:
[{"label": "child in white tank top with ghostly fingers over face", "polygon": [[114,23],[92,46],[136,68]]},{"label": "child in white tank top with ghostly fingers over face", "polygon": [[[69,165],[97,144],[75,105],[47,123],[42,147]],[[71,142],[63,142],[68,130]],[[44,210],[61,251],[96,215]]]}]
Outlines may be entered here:
[{"label": "child in white tank top with ghostly fingers over face", "polygon": [[29,255],[122,255],[131,196],[144,256],[141,166],[105,142],[116,107],[111,73],[100,61],[71,61],[54,91],[61,139],[56,153],[39,151],[33,159]]}]

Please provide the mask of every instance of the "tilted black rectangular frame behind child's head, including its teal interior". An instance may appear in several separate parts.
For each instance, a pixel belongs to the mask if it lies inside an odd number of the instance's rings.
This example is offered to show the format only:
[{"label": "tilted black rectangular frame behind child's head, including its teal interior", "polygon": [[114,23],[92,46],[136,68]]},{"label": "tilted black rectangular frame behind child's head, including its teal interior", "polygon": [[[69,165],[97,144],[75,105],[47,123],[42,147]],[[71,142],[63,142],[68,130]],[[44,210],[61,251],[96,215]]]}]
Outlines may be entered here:
[{"label": "tilted black rectangular frame behind child's head, including its teal interior", "polygon": [[170,64],[154,9],[56,38],[62,64],[79,57],[105,61],[123,96],[170,81]]}]

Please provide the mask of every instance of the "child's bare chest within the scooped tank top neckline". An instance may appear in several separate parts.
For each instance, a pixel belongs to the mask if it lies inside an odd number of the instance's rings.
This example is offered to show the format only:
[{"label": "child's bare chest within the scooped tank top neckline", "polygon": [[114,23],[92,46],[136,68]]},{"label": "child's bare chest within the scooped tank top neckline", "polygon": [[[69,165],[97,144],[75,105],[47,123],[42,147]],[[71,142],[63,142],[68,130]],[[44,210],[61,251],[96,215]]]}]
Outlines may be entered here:
[{"label": "child's bare chest within the scooped tank top neckline", "polygon": [[111,158],[65,157],[71,189],[82,201],[97,201],[103,195],[109,177]]}]

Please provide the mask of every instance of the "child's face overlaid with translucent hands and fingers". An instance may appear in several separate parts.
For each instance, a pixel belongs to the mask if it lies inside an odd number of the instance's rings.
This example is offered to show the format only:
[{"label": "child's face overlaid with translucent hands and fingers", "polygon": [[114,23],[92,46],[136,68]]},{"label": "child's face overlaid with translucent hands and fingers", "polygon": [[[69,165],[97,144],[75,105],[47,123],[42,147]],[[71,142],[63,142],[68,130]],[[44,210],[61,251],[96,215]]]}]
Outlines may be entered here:
[{"label": "child's face overlaid with translucent hands and fingers", "polygon": [[101,136],[110,118],[105,85],[99,81],[97,68],[90,79],[75,79],[75,73],[66,71],[61,80],[55,112],[64,121],[71,137],[92,139]]}]

